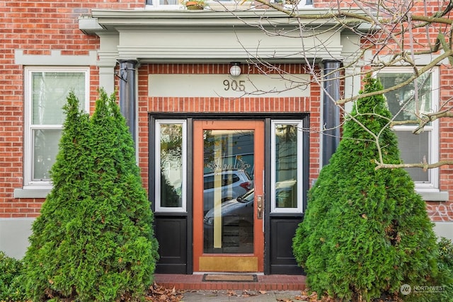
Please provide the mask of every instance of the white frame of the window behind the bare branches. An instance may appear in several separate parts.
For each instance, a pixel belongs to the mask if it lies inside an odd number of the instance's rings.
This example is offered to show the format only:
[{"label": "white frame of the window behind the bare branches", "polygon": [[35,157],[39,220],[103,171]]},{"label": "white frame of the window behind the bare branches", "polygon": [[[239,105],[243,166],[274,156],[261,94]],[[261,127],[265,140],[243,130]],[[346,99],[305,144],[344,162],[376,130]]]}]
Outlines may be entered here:
[{"label": "white frame of the window behind the bare branches", "polygon": [[[382,73],[408,73],[413,74],[413,67],[410,66],[392,66],[382,69]],[[438,67],[434,67],[431,71],[431,107],[434,110],[439,108],[440,102],[440,71]],[[378,74],[375,74],[378,76]],[[411,131],[418,127],[418,125],[395,125],[394,131]],[[425,132],[430,134],[430,153],[426,161],[428,163],[437,163],[439,161],[439,120],[431,122],[430,125],[425,126]],[[398,146],[401,148],[401,146]],[[418,192],[439,192],[439,168],[428,169],[428,178],[430,182],[417,182],[414,181],[415,190]]]}]

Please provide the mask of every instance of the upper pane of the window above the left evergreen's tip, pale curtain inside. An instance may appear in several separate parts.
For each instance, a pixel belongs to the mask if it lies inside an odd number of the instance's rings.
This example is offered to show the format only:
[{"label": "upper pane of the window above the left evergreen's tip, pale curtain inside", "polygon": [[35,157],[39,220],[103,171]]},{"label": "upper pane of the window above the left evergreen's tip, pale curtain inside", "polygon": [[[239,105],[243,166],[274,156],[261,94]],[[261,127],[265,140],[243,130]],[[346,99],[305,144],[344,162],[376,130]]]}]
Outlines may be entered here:
[{"label": "upper pane of the window above the left evergreen's tip, pale curtain inside", "polygon": [[32,75],[31,124],[63,124],[63,105],[70,91],[85,103],[84,72],[44,72]]}]

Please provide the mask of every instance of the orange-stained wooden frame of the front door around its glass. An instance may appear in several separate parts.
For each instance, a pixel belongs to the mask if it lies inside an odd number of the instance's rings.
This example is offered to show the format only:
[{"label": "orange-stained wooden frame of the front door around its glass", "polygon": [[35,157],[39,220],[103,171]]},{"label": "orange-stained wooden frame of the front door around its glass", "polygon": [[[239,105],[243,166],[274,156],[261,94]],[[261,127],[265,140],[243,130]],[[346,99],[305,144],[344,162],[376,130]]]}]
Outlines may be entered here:
[{"label": "orange-stained wooden frame of the front door around its glass", "polygon": [[[253,129],[254,186],[255,201],[258,195],[264,196],[264,121],[263,120],[194,120],[193,121],[193,271],[264,272],[264,230],[263,219],[258,219],[254,202],[253,254],[205,254],[203,252],[203,130],[204,129]],[[200,168],[199,168],[200,167]],[[196,187],[198,186],[198,187]],[[264,204],[263,204],[264,208]],[[264,216],[264,214],[263,214]],[[213,263],[217,269],[212,269]],[[222,265],[219,265],[222,264]],[[241,270],[246,267],[246,270]],[[238,267],[239,265],[239,267]],[[209,269],[207,269],[209,267]],[[225,269],[228,267],[228,269]]]}]

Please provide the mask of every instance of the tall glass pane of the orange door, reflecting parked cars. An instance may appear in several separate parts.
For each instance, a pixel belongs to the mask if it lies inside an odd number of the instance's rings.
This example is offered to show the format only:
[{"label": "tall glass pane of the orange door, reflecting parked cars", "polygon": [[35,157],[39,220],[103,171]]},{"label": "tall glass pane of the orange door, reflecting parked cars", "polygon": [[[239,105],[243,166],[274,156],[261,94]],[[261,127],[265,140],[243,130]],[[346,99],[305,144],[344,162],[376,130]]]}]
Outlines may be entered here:
[{"label": "tall glass pane of the orange door, reflecting parked cars", "polygon": [[253,130],[205,130],[205,253],[253,253]]}]

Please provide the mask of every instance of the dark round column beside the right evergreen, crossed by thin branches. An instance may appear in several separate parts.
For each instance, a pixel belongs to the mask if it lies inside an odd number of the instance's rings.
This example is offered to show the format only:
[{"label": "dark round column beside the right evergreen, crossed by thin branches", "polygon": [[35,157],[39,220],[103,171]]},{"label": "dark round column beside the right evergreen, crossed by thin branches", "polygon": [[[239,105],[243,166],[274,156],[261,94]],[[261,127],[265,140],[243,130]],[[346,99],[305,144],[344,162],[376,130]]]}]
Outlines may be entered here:
[{"label": "dark round column beside the right evergreen, crossed by thin branches", "polygon": [[323,61],[323,151],[322,165],[327,165],[340,144],[340,61]]}]

